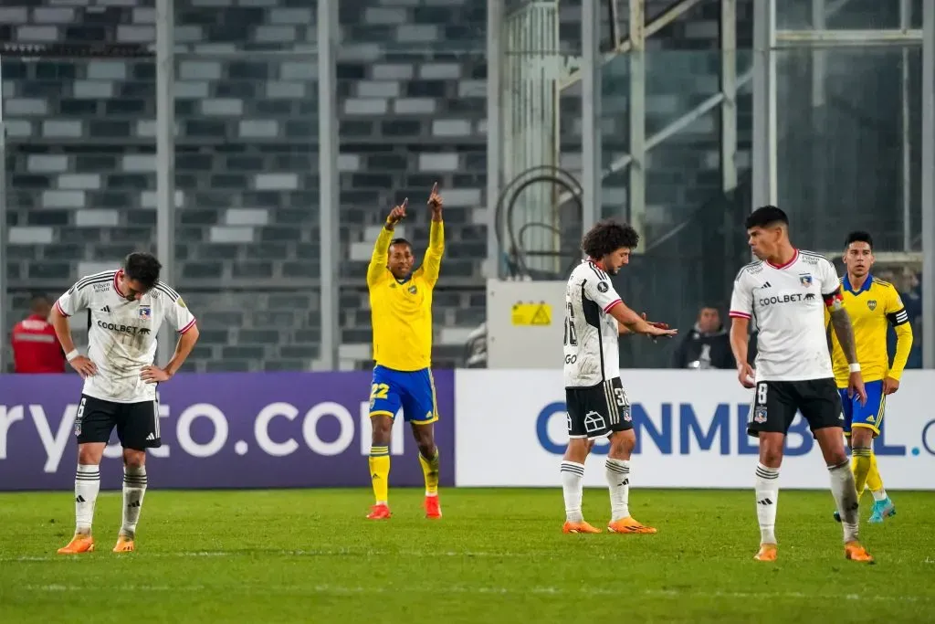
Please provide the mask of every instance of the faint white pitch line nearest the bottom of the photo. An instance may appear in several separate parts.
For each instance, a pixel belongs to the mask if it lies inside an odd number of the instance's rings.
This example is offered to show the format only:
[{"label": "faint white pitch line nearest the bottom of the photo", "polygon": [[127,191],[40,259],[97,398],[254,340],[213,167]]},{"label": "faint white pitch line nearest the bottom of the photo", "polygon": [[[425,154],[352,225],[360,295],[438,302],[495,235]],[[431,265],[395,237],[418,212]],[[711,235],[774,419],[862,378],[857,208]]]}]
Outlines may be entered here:
[{"label": "faint white pitch line nearest the bottom of the photo", "polygon": [[[301,592],[301,593],[320,593],[320,594],[337,594],[337,595],[366,595],[366,594],[399,594],[399,593],[409,593],[409,594],[433,594],[433,595],[444,595],[444,594],[493,594],[493,595],[527,595],[527,594],[548,594],[555,596],[594,596],[594,595],[604,595],[604,596],[619,596],[620,592],[616,589],[607,589],[607,588],[553,588],[553,587],[534,587],[534,588],[496,588],[496,587],[487,587],[487,588],[472,588],[464,586],[453,586],[448,588],[440,588],[434,586],[431,588],[418,588],[411,586],[403,586],[399,588],[385,588],[385,587],[342,587],[335,585],[314,585],[314,586],[300,586],[300,585],[276,585],[276,584],[246,584],[238,585],[240,590],[256,588],[262,590],[266,593],[276,593],[276,592]],[[165,591],[165,592],[178,592],[178,591],[203,591],[211,590],[214,588],[208,588],[202,585],[181,585],[181,586],[165,586],[165,585],[122,585],[122,586],[75,586],[75,585],[27,585],[22,586],[20,589],[27,591],[39,591],[39,592],[53,592],[61,593],[65,591],[81,591],[81,592],[93,592],[99,591],[101,589],[108,590],[118,590],[118,591]],[[735,600],[763,600],[763,599],[793,599],[793,600],[827,600],[827,601],[870,601],[870,602],[935,602],[932,598],[925,596],[882,596],[876,594],[868,595],[857,595],[857,594],[808,594],[800,591],[763,591],[763,592],[744,592],[744,591],[680,591],[675,589],[643,589],[638,591],[643,596],[654,597],[654,598],[698,598],[698,599],[735,599]]]}]

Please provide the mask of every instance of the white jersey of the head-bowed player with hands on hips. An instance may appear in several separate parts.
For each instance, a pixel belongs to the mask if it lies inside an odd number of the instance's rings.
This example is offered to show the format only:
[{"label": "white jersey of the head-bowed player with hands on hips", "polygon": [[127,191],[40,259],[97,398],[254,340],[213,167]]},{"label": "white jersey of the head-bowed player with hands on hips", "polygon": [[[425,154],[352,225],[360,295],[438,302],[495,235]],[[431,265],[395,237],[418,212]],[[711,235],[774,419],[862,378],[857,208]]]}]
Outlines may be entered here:
[{"label": "white jersey of the head-bowed player with hands on hips", "polygon": [[163,321],[180,334],[194,327],[194,316],[179,293],[165,283],[138,301],[121,295],[122,270],[80,279],[55,307],[65,316],[88,311],[88,357],[97,374],[84,380],[83,393],[94,399],[137,403],[156,398],[156,385],[139,375],[156,356],[156,334]]}]

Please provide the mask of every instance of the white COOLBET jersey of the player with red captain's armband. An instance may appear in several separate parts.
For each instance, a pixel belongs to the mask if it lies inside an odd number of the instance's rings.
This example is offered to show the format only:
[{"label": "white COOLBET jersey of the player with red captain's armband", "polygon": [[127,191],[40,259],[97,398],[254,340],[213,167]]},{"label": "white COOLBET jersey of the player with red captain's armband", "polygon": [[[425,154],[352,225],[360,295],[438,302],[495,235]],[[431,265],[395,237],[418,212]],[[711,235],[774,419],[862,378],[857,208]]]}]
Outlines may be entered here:
[{"label": "white COOLBET jersey of the player with red captain's armband", "polygon": [[741,268],[730,315],[756,321],[756,381],[796,382],[833,377],[825,330],[825,301],[841,288],[823,255],[796,251],[783,267],[757,261]]}]

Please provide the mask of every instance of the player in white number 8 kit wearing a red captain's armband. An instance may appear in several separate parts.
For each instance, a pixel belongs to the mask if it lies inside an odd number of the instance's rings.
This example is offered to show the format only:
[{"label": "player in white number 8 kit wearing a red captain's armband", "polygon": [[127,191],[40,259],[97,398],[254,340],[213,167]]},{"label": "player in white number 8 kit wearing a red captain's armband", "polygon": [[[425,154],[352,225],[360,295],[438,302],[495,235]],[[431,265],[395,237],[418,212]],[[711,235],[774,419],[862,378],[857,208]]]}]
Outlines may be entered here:
[{"label": "player in white number 8 kit wearing a red captain's armband", "polygon": [[[871,562],[857,540],[857,491],[844,451],[841,397],[834,381],[825,333],[825,308],[850,366],[849,396],[866,402],[854,329],[844,309],[841,281],[824,256],[799,251],[789,241],[783,210],[764,206],[747,217],[749,244],[758,261],[741,268],[730,301],[730,345],[741,385],[754,388],[747,432],[759,438],[756,515],[760,548],[754,559],[774,561],[779,468],[785,434],[801,412],[821,448],[831,493],[841,514],[844,557]],[[824,302],[824,305],[823,305]],[[750,319],[759,329],[756,370],[747,363]]]}]

